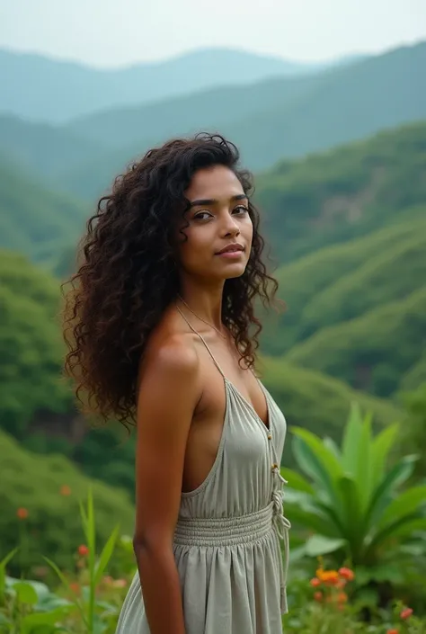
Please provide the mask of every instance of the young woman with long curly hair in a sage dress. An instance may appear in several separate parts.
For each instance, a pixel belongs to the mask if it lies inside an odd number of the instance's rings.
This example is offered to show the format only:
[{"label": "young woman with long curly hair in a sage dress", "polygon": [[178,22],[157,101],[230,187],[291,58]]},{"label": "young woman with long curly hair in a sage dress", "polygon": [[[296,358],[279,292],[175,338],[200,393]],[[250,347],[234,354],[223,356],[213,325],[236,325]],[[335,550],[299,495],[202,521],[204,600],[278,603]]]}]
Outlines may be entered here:
[{"label": "young woman with long curly hair in a sage dress", "polygon": [[137,425],[119,634],[279,634],[287,611],[286,423],[253,373],[277,284],[238,158],[209,135],[150,150],[99,202],[68,296],[77,393]]}]

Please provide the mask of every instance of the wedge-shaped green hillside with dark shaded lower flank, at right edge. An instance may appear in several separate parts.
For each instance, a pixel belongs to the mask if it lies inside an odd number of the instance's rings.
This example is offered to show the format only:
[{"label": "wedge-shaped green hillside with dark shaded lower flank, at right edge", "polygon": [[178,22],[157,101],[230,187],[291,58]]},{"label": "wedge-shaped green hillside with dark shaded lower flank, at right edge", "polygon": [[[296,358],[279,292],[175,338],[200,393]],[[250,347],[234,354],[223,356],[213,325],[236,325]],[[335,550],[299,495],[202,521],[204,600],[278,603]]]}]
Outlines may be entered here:
[{"label": "wedge-shaped green hillside with dark shaded lower flank, at right edge", "polygon": [[426,284],[405,299],[327,326],[286,355],[288,362],[326,372],[379,396],[395,392],[420,362],[426,344]]}]

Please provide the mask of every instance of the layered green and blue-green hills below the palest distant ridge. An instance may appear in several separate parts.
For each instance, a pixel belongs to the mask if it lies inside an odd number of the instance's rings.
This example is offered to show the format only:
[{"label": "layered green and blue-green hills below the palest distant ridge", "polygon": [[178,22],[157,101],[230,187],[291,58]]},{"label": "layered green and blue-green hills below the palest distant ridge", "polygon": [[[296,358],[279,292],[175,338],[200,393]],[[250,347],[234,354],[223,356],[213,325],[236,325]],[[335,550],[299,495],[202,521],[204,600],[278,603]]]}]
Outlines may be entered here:
[{"label": "layered green and blue-green hills below the palest distant ridge", "polygon": [[[400,391],[426,380],[426,123],[414,121],[426,118],[425,60],[419,44],[67,125],[1,116],[4,433],[131,491],[132,442],[118,445],[115,428],[88,432],[59,380],[59,280],[117,170],[151,143],[205,126],[262,168],[254,199],[287,304],[264,320],[262,370],[288,424],[338,438],[351,401],[379,425],[400,419]],[[330,149],[341,141],[351,143]]]}]

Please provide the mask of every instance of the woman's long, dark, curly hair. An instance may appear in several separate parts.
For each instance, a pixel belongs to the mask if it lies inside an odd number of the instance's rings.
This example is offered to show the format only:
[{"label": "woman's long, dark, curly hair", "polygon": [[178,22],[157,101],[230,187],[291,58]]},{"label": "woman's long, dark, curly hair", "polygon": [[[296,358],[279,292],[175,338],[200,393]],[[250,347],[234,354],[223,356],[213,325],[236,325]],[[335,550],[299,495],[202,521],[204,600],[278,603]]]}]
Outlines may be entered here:
[{"label": "woman's long, dark, curly hair", "polygon": [[[63,314],[65,371],[86,412],[126,426],[135,422],[141,355],[180,290],[173,235],[189,209],[184,192],[200,168],[225,165],[249,195],[252,176],[238,163],[235,145],[219,135],[174,139],[130,165],[98,202],[81,242],[81,264],[66,282],[71,288]],[[241,359],[253,366],[262,330],[253,304],[258,298],[271,304],[278,284],[262,263],[264,242],[252,201],[249,215],[252,251],[244,274],[225,282],[222,318]]]}]

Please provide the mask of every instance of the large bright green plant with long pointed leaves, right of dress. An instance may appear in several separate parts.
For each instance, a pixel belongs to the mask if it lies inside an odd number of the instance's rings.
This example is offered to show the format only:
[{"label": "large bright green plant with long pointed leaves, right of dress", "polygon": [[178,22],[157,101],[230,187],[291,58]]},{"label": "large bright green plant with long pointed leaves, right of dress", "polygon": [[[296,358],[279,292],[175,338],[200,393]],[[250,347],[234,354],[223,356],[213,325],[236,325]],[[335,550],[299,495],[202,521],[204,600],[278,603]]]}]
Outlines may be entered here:
[{"label": "large bright green plant with long pointed leaves, right of dress", "polygon": [[[386,460],[398,435],[398,424],[376,437],[371,416],[351,407],[342,447],[299,427],[292,429],[297,465],[306,477],[282,469],[288,480],[286,514],[308,531],[293,557],[331,555],[357,567],[361,584],[404,580],[403,558],[425,554],[426,486],[406,487],[416,456],[404,456],[392,467]],[[408,570],[408,568],[407,568]]]}]

